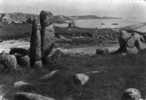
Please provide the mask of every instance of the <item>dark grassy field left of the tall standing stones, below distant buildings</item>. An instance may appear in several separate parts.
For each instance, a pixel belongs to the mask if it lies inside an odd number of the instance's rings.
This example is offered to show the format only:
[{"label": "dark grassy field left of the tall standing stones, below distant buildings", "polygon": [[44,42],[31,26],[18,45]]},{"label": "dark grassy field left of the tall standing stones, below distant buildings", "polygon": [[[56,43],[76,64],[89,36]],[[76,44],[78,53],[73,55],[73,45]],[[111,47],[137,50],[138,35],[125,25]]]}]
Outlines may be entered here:
[{"label": "dark grassy field left of the tall standing stones, below distant buildings", "polygon": [[0,23],[0,40],[19,39],[30,36],[30,24],[3,24]]}]

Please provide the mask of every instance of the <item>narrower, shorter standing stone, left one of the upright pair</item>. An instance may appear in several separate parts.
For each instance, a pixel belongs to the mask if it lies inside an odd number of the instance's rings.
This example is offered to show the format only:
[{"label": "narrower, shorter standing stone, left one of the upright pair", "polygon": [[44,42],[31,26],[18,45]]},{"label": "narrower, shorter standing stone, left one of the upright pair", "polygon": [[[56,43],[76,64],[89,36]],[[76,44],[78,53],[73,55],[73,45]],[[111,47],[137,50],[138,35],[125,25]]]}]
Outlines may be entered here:
[{"label": "narrower, shorter standing stone, left one of the upright pair", "polygon": [[41,35],[40,27],[36,20],[32,23],[32,34],[30,40],[30,64],[31,67],[42,67]]}]

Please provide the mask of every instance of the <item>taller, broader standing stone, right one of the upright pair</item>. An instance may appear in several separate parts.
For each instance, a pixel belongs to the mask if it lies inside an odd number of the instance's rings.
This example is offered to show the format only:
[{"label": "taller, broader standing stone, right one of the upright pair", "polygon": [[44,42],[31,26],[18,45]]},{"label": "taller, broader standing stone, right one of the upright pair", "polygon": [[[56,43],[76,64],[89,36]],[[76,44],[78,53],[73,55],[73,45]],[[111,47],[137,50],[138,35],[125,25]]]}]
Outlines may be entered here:
[{"label": "taller, broader standing stone, right one of the upright pair", "polygon": [[50,49],[55,41],[55,31],[53,27],[53,14],[47,11],[41,11],[40,24],[41,24],[41,50],[43,63],[46,62],[46,52]]}]

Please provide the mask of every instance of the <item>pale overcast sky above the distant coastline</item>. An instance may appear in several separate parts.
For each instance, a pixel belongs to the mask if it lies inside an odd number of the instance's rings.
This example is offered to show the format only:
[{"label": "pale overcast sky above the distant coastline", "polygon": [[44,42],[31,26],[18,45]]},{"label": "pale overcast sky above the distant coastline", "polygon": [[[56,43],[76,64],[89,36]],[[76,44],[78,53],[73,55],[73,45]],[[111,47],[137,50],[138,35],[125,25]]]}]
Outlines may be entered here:
[{"label": "pale overcast sky above the distant coastline", "polygon": [[146,0],[0,0],[0,12],[119,16],[146,18]]}]

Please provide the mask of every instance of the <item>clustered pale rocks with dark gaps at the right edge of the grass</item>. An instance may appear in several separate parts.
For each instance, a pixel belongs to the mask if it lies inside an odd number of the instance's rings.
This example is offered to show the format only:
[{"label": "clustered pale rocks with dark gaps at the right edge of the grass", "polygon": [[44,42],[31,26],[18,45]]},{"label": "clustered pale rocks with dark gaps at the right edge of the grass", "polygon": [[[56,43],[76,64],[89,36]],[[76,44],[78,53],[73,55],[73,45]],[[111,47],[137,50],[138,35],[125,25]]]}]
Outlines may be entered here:
[{"label": "clustered pale rocks with dark gaps at the right edge of the grass", "polygon": [[144,37],[132,30],[121,30],[119,46],[115,53],[137,54],[139,51],[146,49]]}]

